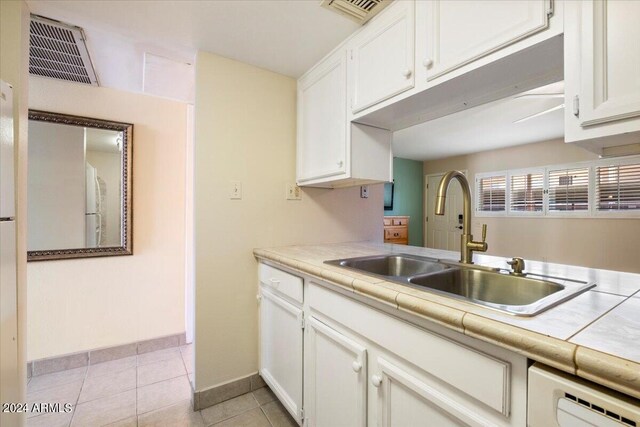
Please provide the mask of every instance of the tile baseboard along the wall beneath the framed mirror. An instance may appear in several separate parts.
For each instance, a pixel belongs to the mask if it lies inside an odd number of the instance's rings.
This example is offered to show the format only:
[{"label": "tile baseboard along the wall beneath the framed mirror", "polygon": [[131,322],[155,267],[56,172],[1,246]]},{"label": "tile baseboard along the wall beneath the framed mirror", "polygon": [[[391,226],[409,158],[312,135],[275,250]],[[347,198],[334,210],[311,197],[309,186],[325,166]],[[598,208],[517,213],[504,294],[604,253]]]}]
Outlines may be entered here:
[{"label": "tile baseboard along the wall beneath the framed mirror", "polygon": [[184,344],[186,344],[186,334],[183,332],[181,334],[167,335],[113,347],[103,347],[79,353],[65,354],[63,356],[33,360],[27,363],[27,377],[37,377],[38,375],[65,371],[67,369],[81,368],[83,366],[109,362],[137,354],[163,350],[165,348],[179,347]]}]

